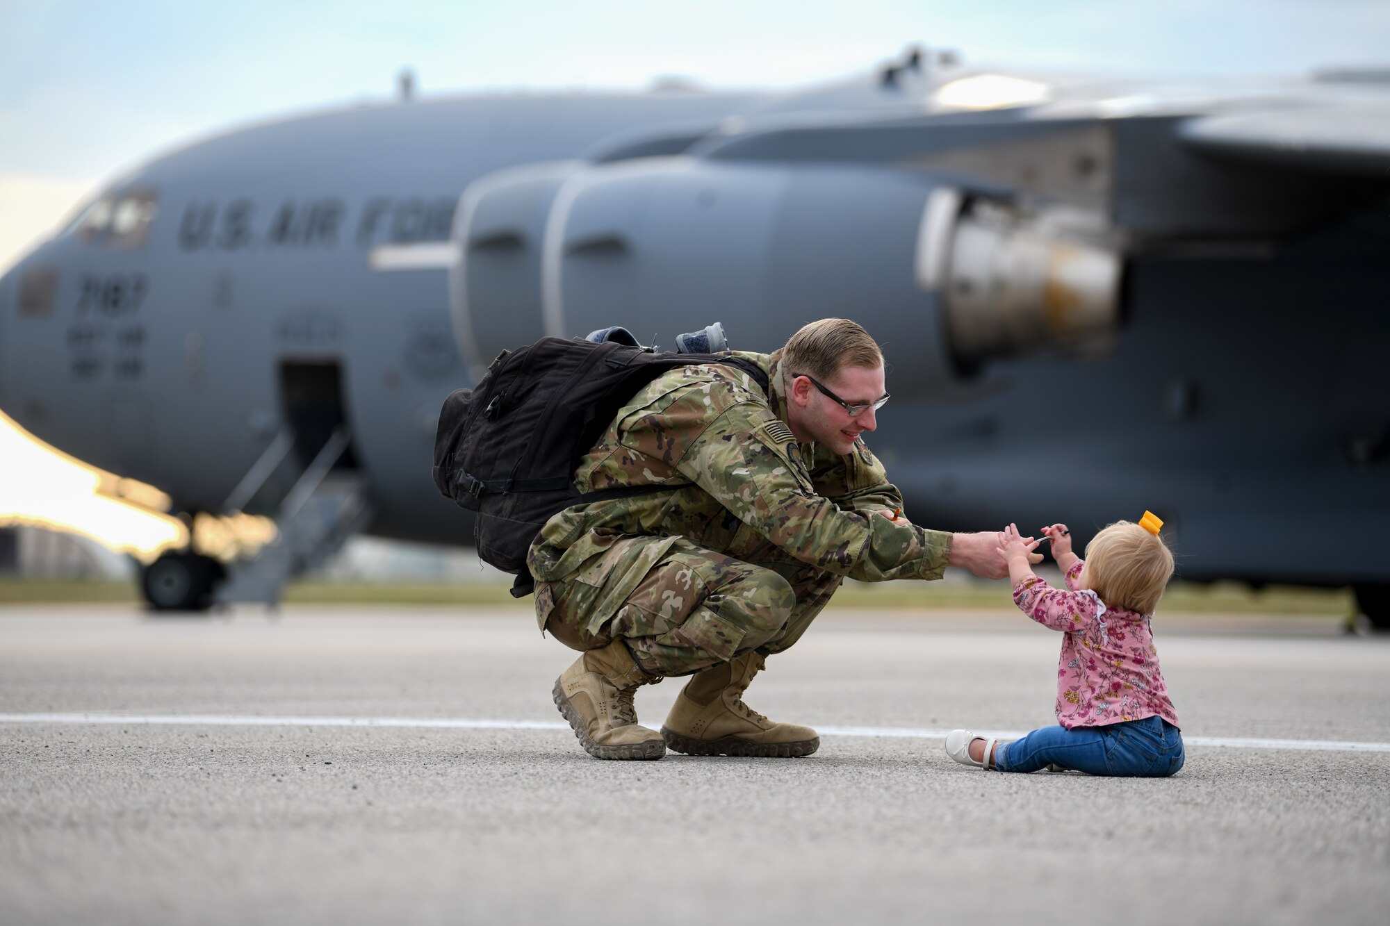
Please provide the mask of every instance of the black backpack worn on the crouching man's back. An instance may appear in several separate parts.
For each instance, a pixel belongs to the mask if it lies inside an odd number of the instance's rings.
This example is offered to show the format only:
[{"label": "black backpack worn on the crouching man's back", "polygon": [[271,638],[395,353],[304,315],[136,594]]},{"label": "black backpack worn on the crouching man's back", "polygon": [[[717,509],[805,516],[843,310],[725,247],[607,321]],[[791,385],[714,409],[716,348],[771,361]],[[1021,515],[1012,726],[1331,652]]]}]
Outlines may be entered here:
[{"label": "black backpack worn on the crouching man's back", "polygon": [[741,357],[541,338],[503,350],[477,388],[456,389],[445,399],[435,434],[435,485],[477,512],[478,555],[517,576],[513,595],[531,591],[527,549],[552,514],[581,502],[662,489],[580,494],[574,470],[642,387],[667,370],[701,363],[738,367],[767,392],[767,374]]}]

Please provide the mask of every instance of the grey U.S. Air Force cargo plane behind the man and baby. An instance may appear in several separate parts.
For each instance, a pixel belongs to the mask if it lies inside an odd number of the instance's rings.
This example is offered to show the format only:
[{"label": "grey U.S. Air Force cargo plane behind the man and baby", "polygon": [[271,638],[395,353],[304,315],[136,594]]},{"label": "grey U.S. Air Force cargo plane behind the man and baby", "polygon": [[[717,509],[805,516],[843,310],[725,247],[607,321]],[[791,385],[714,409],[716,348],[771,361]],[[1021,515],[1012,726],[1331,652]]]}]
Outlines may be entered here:
[{"label": "grey U.S. Air Force cargo plane behind the man and baby", "polygon": [[1352,585],[1390,626],[1390,75],[1145,85],[910,50],[790,93],[400,99],[240,128],[0,281],[0,407],[279,542],[145,570],[274,601],[356,530],[467,544],[442,399],[505,348],[827,316],[944,530],[1150,509],[1188,580]]}]

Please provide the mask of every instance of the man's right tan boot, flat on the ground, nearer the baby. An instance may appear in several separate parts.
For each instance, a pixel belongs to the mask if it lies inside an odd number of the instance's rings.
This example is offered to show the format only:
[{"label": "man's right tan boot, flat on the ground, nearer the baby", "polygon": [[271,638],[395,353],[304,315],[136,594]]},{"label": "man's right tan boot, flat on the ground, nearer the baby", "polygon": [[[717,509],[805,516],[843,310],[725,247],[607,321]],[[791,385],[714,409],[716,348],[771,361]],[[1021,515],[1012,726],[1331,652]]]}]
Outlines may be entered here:
[{"label": "man's right tan boot, flat on the ground, nearer the baby", "polygon": [[688,755],[798,756],[820,747],[810,727],[773,723],[744,704],[744,690],[766,659],[746,652],[696,672],[662,726],[666,745]]}]

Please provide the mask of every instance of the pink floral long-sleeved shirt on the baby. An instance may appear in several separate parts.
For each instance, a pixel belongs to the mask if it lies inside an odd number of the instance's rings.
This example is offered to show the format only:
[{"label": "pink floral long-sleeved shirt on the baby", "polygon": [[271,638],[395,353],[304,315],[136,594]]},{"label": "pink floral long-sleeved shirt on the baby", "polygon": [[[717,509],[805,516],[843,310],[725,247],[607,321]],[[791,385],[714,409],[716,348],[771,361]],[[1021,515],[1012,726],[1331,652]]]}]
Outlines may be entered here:
[{"label": "pink floral long-sleeved shirt on the baby", "polygon": [[1077,590],[1086,563],[1066,571],[1066,588],[1037,576],[1013,587],[1013,603],[1044,627],[1062,631],[1056,666],[1056,720],[1068,730],[1159,717],[1175,727],[1177,713],[1158,667],[1150,616],[1106,608],[1099,595]]}]

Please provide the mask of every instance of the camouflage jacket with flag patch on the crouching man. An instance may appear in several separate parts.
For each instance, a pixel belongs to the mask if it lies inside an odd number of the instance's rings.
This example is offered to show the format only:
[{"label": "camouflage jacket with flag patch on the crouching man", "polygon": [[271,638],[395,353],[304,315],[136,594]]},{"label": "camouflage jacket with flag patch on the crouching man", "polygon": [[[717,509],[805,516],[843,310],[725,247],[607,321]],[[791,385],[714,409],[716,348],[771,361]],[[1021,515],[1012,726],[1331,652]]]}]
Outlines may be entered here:
[{"label": "camouflage jacket with flag patch on the crouching man", "polygon": [[[902,495],[863,439],[845,456],[796,444],[780,353],[738,355],[767,371],[771,395],[737,367],[706,364],[664,373],[632,396],[580,463],[575,484],[581,492],[666,488],[559,512],[531,545],[531,574],[598,573],[617,541],[651,537],[641,562],[623,558],[620,584],[635,588],[670,538],[685,537],[739,559],[771,552],[860,581],[940,578],[951,534],[870,516],[901,507]],[[605,584],[614,605],[631,592]],[[538,619],[543,627],[545,615]]]}]

